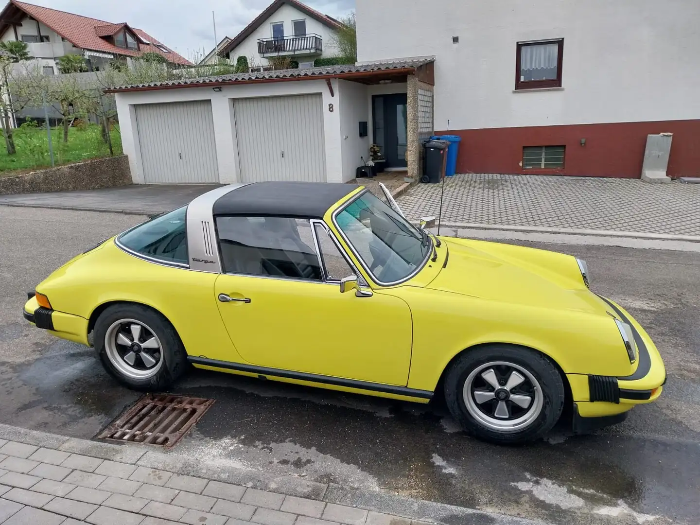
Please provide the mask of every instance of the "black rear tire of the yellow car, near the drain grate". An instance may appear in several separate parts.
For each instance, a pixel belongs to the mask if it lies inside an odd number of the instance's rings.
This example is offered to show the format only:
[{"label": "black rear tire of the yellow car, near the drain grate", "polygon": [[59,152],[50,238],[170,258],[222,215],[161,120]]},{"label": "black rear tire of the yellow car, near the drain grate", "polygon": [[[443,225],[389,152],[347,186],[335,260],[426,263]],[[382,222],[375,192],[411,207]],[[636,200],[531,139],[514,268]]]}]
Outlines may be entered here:
[{"label": "black rear tire of the yellow car, near the drain grate", "polygon": [[[162,360],[158,371],[151,377],[137,379],[119,370],[110,360],[106,335],[114,323],[132,319],[143,323],[160,342],[158,355]],[[124,386],[139,391],[162,391],[168,388],[188,368],[187,352],[173,325],[158,311],[141,304],[114,304],[106,308],[94,325],[94,348],[99,353],[105,370]]]}]

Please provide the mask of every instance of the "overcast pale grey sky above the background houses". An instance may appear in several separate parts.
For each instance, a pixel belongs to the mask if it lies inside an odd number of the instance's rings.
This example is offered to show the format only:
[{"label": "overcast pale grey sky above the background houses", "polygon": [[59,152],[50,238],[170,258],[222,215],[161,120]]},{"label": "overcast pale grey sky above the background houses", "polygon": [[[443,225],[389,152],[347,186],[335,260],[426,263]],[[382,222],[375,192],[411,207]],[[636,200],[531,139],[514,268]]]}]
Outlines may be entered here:
[{"label": "overcast pale grey sky above the background houses", "polygon": [[[212,10],[216,13],[216,36],[221,40],[226,35],[236,36],[272,0],[27,0],[27,3],[107,22],[127,22],[192,59],[197,50],[205,55],[214,48]],[[304,0],[304,3],[333,17],[355,8],[355,0]]]}]

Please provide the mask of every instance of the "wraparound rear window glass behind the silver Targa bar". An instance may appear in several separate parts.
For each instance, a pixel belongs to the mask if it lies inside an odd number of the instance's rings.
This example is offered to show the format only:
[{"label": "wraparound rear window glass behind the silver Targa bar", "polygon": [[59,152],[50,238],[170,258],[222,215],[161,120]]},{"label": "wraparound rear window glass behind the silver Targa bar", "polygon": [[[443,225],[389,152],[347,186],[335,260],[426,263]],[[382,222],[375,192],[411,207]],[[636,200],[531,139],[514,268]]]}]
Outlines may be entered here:
[{"label": "wraparound rear window glass behind the silver Targa bar", "polygon": [[153,218],[117,237],[124,248],[148,258],[187,265],[187,207]]}]

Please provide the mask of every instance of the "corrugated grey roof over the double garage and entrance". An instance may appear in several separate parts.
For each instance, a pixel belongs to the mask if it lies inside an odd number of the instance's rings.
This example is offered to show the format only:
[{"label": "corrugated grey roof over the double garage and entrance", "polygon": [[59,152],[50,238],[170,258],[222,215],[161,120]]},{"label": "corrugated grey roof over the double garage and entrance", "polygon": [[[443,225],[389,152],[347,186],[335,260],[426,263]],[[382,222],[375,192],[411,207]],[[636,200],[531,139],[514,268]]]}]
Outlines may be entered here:
[{"label": "corrugated grey roof over the double garage and entrance", "polygon": [[323,78],[346,78],[347,80],[361,81],[363,79],[372,78],[372,76],[378,74],[413,74],[419,69],[426,69],[428,71],[429,78],[426,78],[425,81],[432,84],[432,66],[434,61],[435,57],[416,57],[386,62],[372,62],[370,64],[344,64],[338,66],[311,67],[308,69],[281,69],[279,71],[258,71],[255,73],[236,73],[223,76],[182,78],[179,80],[168,80],[166,82],[114,87],[111,90],[107,90],[107,92],[161,90],[181,87],[216,87],[230,84],[283,82],[285,80],[312,80]]}]

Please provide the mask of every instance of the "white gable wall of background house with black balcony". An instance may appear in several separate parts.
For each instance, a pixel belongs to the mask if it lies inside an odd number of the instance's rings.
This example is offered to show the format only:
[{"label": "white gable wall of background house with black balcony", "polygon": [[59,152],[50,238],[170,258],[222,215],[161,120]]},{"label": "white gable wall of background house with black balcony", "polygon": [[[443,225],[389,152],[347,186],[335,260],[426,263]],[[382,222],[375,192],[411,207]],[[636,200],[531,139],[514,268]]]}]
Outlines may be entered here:
[{"label": "white gable wall of background house with black balcony", "polygon": [[307,34],[315,33],[321,35],[323,41],[323,53],[321,55],[309,57],[297,55],[294,58],[295,60],[299,62],[313,62],[316,58],[337,56],[337,48],[332,44],[330,38],[334,31],[318,22],[318,20],[307,16],[306,13],[302,13],[297,8],[285,3],[265,22],[262,22],[260,27],[255,29],[237,48],[232,50],[230,53],[232,62],[235,63],[236,59],[243,55],[248,58],[248,65],[251,67],[256,65],[266,66],[268,64],[267,59],[258,55],[258,38],[272,38],[272,24],[274,22],[284,22],[284,36],[294,36],[293,20],[306,20]]}]

